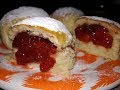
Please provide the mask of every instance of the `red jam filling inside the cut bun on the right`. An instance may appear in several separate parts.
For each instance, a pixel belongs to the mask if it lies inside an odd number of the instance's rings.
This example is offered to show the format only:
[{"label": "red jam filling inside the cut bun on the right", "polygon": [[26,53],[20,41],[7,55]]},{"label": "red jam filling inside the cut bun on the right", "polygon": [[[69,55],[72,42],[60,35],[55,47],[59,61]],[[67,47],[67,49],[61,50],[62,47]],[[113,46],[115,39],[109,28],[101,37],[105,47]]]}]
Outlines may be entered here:
[{"label": "red jam filling inside the cut bun on the right", "polygon": [[95,45],[111,48],[113,37],[108,29],[99,24],[83,24],[75,29],[76,38],[83,42],[92,41]]}]

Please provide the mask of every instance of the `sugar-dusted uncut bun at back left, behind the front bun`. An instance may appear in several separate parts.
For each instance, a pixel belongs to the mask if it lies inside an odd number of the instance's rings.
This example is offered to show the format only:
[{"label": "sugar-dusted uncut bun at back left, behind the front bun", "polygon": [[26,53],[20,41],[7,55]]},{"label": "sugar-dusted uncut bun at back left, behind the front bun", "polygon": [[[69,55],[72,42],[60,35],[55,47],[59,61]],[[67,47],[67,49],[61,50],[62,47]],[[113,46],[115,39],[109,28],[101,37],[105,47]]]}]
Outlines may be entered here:
[{"label": "sugar-dusted uncut bun at back left, behind the front bun", "polygon": [[[11,10],[7,12],[1,19],[0,21],[0,32],[1,38],[5,39],[3,42],[8,48],[11,49],[12,45],[9,44],[9,38],[7,37],[8,31],[11,31],[10,26],[13,24],[25,19],[25,18],[30,18],[30,17],[48,17],[49,15],[47,14],[46,11],[44,11],[41,8],[37,7],[31,7],[31,6],[21,6],[19,8],[16,8],[14,10]],[[6,36],[6,37],[5,37]]]}]

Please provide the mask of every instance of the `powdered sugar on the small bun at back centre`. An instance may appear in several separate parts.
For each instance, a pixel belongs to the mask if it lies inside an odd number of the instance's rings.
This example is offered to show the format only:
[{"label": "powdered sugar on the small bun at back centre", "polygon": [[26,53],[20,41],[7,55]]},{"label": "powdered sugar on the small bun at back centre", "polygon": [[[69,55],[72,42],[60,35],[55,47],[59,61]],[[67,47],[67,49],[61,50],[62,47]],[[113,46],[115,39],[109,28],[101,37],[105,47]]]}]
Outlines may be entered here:
[{"label": "powdered sugar on the small bun at back centre", "polygon": [[78,16],[84,15],[84,13],[81,10],[78,10],[74,7],[62,7],[58,8],[54,13],[53,16],[61,16],[64,17],[67,14],[76,14]]}]

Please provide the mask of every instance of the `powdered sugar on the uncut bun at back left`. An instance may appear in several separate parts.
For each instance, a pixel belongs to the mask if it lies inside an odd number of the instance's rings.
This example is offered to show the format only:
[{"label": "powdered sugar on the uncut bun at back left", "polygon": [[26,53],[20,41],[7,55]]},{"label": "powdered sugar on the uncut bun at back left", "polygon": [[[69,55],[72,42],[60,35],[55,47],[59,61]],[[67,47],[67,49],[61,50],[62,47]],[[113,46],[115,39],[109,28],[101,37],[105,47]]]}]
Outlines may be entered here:
[{"label": "powdered sugar on the uncut bun at back left", "polygon": [[26,17],[48,17],[48,13],[42,8],[22,6],[6,13],[1,19],[1,23],[11,21],[15,18],[26,18]]}]

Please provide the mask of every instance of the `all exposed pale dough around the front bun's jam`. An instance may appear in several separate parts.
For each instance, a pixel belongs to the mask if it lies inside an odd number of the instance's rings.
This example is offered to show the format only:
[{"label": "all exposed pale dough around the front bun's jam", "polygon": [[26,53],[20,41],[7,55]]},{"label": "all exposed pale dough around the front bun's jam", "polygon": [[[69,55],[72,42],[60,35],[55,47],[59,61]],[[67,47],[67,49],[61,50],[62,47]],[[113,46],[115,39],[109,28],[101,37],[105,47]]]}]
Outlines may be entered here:
[{"label": "all exposed pale dough around the front bun's jam", "polygon": [[[48,29],[39,26],[34,27],[30,25],[21,24],[13,26],[12,32],[9,33],[11,43],[15,35],[23,31],[30,31],[29,34],[47,38],[52,43],[54,43],[54,45],[57,46],[57,52],[55,54],[56,63],[54,67],[50,70],[50,72],[52,74],[59,74],[64,76],[69,75],[69,70],[73,68],[75,62],[75,51],[73,49],[74,46],[72,40],[69,45],[66,44],[66,34],[49,31]],[[34,65],[34,63],[30,65],[32,65],[33,68],[39,68],[38,65]]]}]

